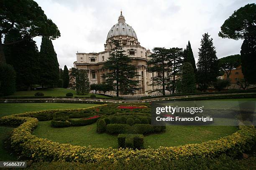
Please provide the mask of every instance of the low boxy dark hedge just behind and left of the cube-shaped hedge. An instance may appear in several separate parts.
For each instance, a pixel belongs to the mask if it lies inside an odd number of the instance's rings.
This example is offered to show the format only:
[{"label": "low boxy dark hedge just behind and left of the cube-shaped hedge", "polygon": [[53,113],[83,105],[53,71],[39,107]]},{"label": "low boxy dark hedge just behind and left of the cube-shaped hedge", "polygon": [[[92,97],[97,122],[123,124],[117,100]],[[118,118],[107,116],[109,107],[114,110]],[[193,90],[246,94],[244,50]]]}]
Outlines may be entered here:
[{"label": "low boxy dark hedge just behind and left of the cube-shaped hedge", "polygon": [[107,133],[119,134],[119,133],[132,133],[133,128],[127,124],[108,124]]}]

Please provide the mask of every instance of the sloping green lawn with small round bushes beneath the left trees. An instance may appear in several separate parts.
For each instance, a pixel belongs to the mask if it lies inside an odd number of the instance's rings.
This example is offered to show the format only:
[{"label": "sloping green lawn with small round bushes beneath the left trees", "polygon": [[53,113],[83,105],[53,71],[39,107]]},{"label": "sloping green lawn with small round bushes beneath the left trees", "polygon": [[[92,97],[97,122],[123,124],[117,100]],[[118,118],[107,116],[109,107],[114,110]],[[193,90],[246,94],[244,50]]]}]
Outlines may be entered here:
[{"label": "sloping green lawn with small round bushes beneath the left trees", "polygon": [[[77,92],[75,90],[65,89],[65,88],[47,88],[43,90],[31,90],[31,91],[18,91],[15,92],[13,95],[9,96],[34,96],[36,92],[43,92],[44,96],[66,96],[68,92],[72,92],[74,96],[80,96],[80,97],[90,97],[92,93],[89,93],[87,95],[77,95]],[[95,94],[96,97],[105,97],[105,98],[111,98],[104,95]]]}]

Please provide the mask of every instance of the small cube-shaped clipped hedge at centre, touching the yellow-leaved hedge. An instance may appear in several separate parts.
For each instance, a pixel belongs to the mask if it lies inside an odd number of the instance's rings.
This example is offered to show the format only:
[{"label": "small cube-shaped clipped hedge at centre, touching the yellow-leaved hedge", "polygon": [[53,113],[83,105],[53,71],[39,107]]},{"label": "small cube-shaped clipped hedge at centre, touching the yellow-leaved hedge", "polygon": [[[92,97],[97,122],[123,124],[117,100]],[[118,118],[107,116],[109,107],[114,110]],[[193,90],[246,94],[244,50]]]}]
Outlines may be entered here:
[{"label": "small cube-shaped clipped hedge at centre, touching the yellow-leaved hedge", "polygon": [[142,149],[144,143],[143,135],[119,134],[118,148]]}]

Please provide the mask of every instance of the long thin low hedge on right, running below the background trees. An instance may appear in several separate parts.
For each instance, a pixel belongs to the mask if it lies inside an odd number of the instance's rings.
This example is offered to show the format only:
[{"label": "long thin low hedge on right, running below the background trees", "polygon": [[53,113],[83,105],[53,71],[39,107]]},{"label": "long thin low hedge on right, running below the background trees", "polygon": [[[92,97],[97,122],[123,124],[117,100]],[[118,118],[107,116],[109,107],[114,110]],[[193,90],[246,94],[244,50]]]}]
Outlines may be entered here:
[{"label": "long thin low hedge on right, running below the background trees", "polygon": [[222,91],[222,92],[196,92],[196,93],[183,93],[183,94],[174,94],[174,95],[159,95],[159,96],[146,96],[141,97],[141,99],[153,99],[153,98],[161,98],[161,97],[175,97],[175,96],[189,96],[189,95],[214,95],[214,94],[232,94],[232,93],[249,93],[256,92],[256,90],[230,90],[230,91]]}]

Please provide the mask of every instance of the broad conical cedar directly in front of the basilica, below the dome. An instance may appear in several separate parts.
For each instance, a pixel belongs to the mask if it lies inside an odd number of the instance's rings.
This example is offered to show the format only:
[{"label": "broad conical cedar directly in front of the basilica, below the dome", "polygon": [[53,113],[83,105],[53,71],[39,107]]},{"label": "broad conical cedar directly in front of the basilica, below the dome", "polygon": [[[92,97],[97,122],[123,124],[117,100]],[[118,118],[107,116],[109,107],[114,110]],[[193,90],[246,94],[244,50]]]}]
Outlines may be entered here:
[{"label": "broad conical cedar directly in front of the basilica, below the dome", "polygon": [[123,94],[133,94],[138,90],[138,80],[133,80],[138,77],[136,66],[129,64],[131,58],[124,54],[123,48],[118,40],[113,40],[114,48],[110,51],[110,57],[104,64],[104,69],[109,70],[103,74],[105,83],[112,85],[116,91],[116,96],[119,96],[119,91]]}]

